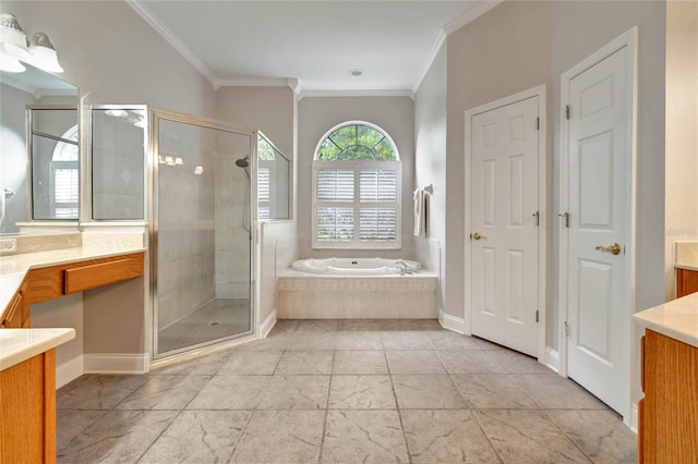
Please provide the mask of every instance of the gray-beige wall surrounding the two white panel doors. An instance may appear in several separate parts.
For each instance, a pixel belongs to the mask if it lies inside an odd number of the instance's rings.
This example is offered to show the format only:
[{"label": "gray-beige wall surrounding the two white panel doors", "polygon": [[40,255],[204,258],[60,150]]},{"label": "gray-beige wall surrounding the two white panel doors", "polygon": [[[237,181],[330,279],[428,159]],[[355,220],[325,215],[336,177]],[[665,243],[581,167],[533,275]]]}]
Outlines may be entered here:
[{"label": "gray-beige wall surrounding the two white panel doors", "polygon": [[[505,2],[448,36],[445,310],[462,317],[465,111],[537,86],[549,90],[549,344],[557,349],[558,121],[561,74],[639,25],[636,305],[663,300],[663,2]],[[441,66],[441,65],[440,65]],[[418,94],[419,95],[419,94]],[[419,133],[422,127],[416,129]],[[553,143],[553,141],[555,141]],[[418,160],[418,163],[421,161]]]}]

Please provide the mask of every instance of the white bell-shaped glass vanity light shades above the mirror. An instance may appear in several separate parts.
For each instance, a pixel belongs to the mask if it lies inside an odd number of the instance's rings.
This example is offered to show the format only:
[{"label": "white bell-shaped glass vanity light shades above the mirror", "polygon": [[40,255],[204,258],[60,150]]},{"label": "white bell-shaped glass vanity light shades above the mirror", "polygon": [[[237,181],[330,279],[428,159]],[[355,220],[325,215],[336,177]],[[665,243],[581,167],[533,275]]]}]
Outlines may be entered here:
[{"label": "white bell-shaped glass vanity light shades above the mirror", "polygon": [[27,48],[26,34],[14,14],[2,13],[0,14],[0,69],[14,73],[26,71],[20,61],[50,73],[63,72],[58,63],[56,48],[46,34],[34,34]]}]

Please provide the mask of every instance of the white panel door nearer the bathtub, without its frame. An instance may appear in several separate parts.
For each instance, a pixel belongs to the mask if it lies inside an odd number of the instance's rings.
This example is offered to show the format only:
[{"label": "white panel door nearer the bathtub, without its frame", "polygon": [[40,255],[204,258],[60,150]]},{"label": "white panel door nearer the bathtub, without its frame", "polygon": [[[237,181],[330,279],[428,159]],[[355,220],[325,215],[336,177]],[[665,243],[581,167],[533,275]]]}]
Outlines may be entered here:
[{"label": "white panel door nearer the bathtub, without its frame", "polygon": [[538,97],[472,118],[472,333],[538,354]]}]

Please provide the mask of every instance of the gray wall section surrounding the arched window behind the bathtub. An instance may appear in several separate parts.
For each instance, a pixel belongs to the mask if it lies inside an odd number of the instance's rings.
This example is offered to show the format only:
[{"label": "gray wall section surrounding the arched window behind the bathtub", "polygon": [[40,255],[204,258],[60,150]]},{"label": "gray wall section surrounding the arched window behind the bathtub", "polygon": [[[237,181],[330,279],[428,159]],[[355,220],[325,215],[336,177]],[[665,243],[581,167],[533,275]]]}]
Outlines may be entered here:
[{"label": "gray wall section surrounding the arched window behind the bathtub", "polygon": [[[412,256],[414,223],[414,103],[409,97],[305,97],[298,103],[298,232],[301,257],[402,257]],[[402,170],[402,248],[400,251],[311,251],[312,169],[321,137],[346,121],[366,121],[386,131],[400,155]]]}]

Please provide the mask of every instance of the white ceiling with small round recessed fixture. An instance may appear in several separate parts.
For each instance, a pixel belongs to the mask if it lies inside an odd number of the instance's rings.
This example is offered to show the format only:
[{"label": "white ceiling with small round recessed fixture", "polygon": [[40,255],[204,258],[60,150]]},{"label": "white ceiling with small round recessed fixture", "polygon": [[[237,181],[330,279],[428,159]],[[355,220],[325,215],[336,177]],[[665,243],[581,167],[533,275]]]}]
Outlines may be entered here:
[{"label": "white ceiling with small round recessed fixture", "polygon": [[[500,3],[127,1],[215,87],[298,84],[303,91],[406,95],[446,34]],[[363,74],[352,76],[356,69]]]}]

